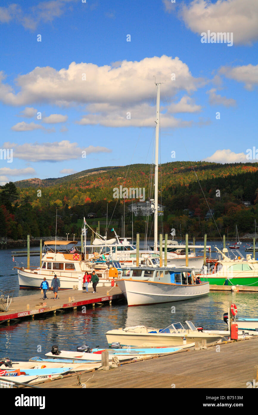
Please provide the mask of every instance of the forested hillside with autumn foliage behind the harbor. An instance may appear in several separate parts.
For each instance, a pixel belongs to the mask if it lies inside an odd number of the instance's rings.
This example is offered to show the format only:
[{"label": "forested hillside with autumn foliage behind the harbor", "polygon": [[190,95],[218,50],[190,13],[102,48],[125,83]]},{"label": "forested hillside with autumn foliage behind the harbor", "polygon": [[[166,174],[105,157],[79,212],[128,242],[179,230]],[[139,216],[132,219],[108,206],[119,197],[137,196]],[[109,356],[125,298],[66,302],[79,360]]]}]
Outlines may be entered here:
[{"label": "forested hillside with autumn foliage behind the harbor", "polygon": [[[196,173],[196,174],[195,174]],[[198,183],[199,180],[199,183]],[[153,198],[154,170],[148,164],[122,167],[101,167],[75,173],[63,178],[37,178],[7,183],[0,188],[0,236],[23,239],[55,234],[55,215],[58,209],[59,236],[80,234],[81,220],[89,212],[97,219],[118,220],[125,211],[126,232],[132,229],[128,205],[132,200],[114,200],[113,188],[145,188],[145,200]],[[251,232],[258,220],[258,164],[216,164],[207,162],[173,162],[159,167],[159,203],[165,206],[159,217],[159,231],[171,227],[182,234],[209,237],[222,233]],[[207,202],[206,202],[206,200]],[[136,200],[133,200],[135,202]],[[242,202],[249,201],[246,207]],[[124,205],[125,203],[125,205]],[[217,227],[212,219],[214,212]],[[134,218],[134,232],[145,232],[145,217]],[[153,217],[149,218],[149,231]],[[104,233],[104,225],[102,229]],[[110,232],[109,232],[110,234]]]}]

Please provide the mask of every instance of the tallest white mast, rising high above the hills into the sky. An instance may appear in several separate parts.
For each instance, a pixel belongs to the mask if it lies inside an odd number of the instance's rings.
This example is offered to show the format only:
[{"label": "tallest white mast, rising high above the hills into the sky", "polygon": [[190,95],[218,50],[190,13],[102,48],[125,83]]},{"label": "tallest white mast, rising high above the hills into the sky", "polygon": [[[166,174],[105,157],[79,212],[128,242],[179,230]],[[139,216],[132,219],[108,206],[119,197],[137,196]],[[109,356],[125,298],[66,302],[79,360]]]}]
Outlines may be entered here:
[{"label": "tallest white mast, rising high above the hills into the sky", "polygon": [[154,182],[154,251],[158,250],[158,169],[159,169],[159,101],[160,83],[157,85],[157,112],[156,112],[156,138],[155,138],[155,182]]}]

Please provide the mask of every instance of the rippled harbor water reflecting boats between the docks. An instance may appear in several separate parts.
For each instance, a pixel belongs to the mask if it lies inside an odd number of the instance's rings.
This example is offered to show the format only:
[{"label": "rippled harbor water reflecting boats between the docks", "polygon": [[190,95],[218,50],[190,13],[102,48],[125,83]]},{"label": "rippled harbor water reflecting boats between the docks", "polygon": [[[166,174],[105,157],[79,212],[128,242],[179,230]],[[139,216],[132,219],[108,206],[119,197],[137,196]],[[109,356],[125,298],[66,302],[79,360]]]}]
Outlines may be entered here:
[{"label": "rippled harbor water reflecting boats between the docks", "polygon": [[[207,244],[214,246],[215,242]],[[239,249],[243,255],[246,245],[243,243]],[[217,242],[217,246],[221,248],[222,243]],[[0,250],[0,289],[13,289],[14,296],[35,294],[33,290],[19,290],[17,270],[13,269],[16,262],[12,262],[12,250],[14,249]],[[16,259],[19,265],[27,264],[26,257]],[[31,265],[38,265],[39,256],[31,257],[30,262]],[[223,330],[227,328],[223,322],[223,313],[227,311],[229,302],[237,305],[239,315],[251,317],[257,315],[257,299],[258,293],[211,291],[198,300],[130,308],[122,301],[116,305],[87,308],[86,313],[77,310],[34,321],[25,320],[10,326],[0,325],[0,357],[9,356],[13,360],[43,357],[53,344],[63,350],[75,351],[77,346],[85,343],[91,347],[108,347],[105,335],[107,330],[131,325],[164,328],[173,322],[180,321],[183,324],[185,320],[192,320],[195,325],[207,329]],[[175,306],[175,313],[171,313],[172,305]]]}]

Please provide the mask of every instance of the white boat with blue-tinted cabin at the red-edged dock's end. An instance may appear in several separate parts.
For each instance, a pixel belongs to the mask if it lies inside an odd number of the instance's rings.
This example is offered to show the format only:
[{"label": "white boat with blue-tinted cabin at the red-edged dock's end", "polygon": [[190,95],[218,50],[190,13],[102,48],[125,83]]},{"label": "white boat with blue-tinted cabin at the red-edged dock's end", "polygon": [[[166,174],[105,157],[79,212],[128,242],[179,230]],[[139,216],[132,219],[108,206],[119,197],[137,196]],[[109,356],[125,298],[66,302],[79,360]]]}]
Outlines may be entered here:
[{"label": "white boat with blue-tinted cabin at the red-edged dock's end", "polygon": [[210,291],[209,283],[195,280],[194,272],[190,267],[129,267],[122,270],[116,284],[128,306],[190,300]]}]

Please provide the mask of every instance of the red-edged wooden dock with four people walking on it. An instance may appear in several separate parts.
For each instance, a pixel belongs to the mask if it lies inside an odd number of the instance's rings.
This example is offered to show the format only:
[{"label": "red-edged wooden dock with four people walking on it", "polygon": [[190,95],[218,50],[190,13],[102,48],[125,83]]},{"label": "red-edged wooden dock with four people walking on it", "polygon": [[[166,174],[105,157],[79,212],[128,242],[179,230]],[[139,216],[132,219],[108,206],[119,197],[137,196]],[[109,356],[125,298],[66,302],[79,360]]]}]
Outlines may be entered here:
[{"label": "red-edged wooden dock with four people walking on it", "polygon": [[[31,318],[44,313],[56,313],[58,310],[77,308],[83,305],[94,305],[95,303],[109,303],[123,297],[118,287],[97,286],[97,293],[93,294],[93,288],[86,290],[63,290],[58,291],[58,299],[54,300],[53,291],[47,292],[47,300],[43,300],[40,289],[37,294],[21,295],[14,297],[10,308],[6,312],[0,311],[0,323],[17,322],[17,320]],[[109,295],[107,295],[109,293]],[[51,314],[50,314],[51,315]]]}]

